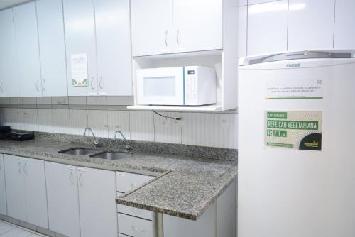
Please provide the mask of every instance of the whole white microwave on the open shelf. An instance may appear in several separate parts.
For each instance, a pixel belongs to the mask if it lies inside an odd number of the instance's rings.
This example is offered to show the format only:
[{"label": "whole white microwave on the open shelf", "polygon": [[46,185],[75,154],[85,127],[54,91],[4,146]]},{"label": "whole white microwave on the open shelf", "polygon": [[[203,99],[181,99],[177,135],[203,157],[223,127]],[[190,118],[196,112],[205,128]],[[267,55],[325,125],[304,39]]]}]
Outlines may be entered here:
[{"label": "whole white microwave on the open shelf", "polygon": [[216,71],[209,67],[137,70],[137,104],[200,106],[216,103]]}]

